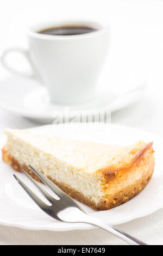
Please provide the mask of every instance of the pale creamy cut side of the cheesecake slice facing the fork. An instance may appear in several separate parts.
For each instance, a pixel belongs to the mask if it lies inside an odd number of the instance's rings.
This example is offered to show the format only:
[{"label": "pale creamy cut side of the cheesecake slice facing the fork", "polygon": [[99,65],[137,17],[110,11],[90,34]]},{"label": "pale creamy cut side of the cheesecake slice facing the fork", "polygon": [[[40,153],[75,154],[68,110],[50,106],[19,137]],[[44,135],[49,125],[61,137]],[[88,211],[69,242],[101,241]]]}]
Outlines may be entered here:
[{"label": "pale creamy cut side of the cheesecake slice facing the fork", "polygon": [[24,143],[20,139],[15,143],[15,138],[12,136],[8,137],[4,150],[10,153],[20,165],[28,166],[30,164],[46,176],[51,176],[52,179],[90,197],[94,202],[98,202],[100,197],[104,196],[100,173],[98,175],[85,173],[38,148],[29,147],[28,143]]}]

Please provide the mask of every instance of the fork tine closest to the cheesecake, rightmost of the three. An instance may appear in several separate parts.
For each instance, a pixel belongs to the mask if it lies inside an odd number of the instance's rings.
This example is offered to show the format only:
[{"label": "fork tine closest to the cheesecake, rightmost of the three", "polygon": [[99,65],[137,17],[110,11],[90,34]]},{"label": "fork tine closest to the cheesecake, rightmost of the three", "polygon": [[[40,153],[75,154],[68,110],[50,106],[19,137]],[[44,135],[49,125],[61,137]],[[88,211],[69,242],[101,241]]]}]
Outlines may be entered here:
[{"label": "fork tine closest to the cheesecake, rightmost of the three", "polygon": [[[56,193],[60,198],[62,196],[67,196],[65,192],[63,192],[57,185],[55,185],[51,180],[49,180],[45,175],[40,173],[34,167],[29,165],[29,168],[33,170],[33,172],[49,187],[51,190]],[[67,196],[68,197],[68,196]]]}]

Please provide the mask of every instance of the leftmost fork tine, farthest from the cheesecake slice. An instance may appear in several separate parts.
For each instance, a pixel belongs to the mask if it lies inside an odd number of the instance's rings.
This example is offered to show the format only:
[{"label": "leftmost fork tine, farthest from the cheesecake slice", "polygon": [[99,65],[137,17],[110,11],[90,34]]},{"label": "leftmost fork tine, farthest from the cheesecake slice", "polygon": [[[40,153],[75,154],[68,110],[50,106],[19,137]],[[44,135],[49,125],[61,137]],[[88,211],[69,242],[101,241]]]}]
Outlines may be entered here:
[{"label": "leftmost fork tine, farthest from the cheesecake slice", "polygon": [[14,178],[16,179],[16,181],[22,186],[22,188],[27,192],[27,194],[34,200],[34,202],[45,212],[48,211],[48,205],[46,203],[44,203],[39,197],[36,196],[36,194],[30,190],[30,188],[24,184],[24,182],[19,179],[15,174],[14,174]]}]

